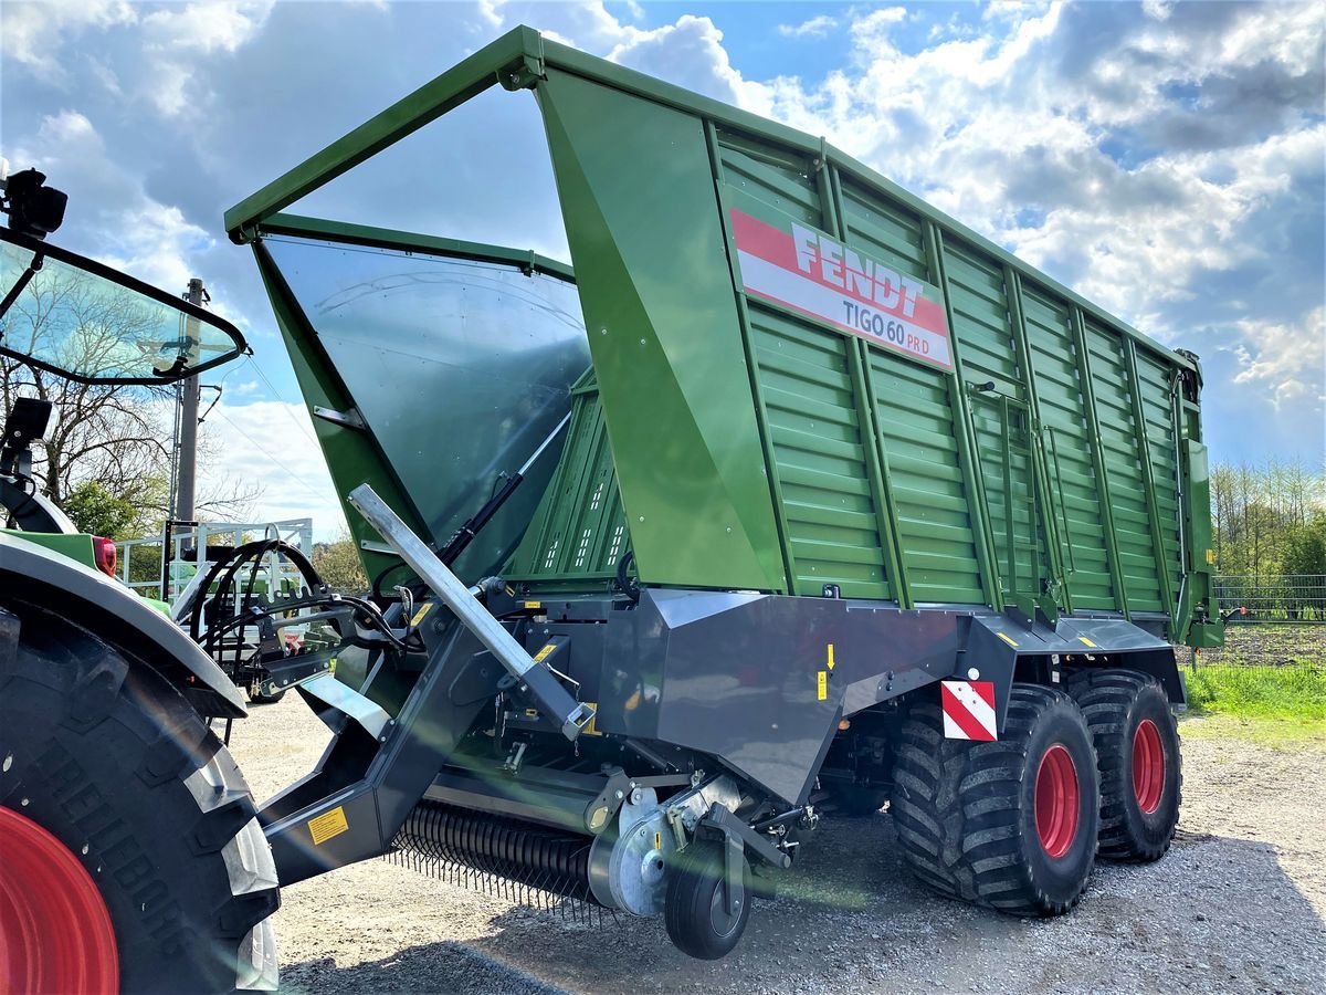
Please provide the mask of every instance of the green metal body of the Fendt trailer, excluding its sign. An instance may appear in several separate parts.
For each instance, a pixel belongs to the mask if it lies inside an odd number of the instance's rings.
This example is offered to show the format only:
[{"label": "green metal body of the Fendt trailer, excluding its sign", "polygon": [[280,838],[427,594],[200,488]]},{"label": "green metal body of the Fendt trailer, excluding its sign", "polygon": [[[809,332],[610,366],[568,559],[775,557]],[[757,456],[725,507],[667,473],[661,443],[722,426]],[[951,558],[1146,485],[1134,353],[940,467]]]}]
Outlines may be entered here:
[{"label": "green metal body of the Fendt trailer, excluding its sign", "polygon": [[[1200,413],[1176,393],[1195,361],[822,139],[518,29],[232,210],[232,237],[265,226],[572,279],[500,247],[277,214],[495,82],[542,111],[593,358],[508,577],[603,589],[633,549],[646,584],[1177,612],[1176,638],[1217,638]],[[733,211],[937,289],[952,369],[744,292]],[[309,402],[337,407],[334,367],[264,277]],[[371,438],[318,431],[338,487],[381,480],[410,511]]]}]

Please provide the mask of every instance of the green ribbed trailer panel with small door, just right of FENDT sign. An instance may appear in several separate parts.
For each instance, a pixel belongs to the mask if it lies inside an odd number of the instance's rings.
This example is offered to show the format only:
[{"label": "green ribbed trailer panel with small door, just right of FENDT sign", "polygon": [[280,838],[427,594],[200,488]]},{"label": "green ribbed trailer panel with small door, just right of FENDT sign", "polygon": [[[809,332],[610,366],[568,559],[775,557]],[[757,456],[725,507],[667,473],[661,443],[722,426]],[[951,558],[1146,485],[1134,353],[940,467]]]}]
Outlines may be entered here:
[{"label": "green ribbed trailer panel with small door, just right of FENDT sign", "polygon": [[1028,391],[1013,349],[1004,265],[945,239],[944,273],[967,381],[993,383],[969,398],[1000,578],[1005,596],[1036,597],[1049,576],[1048,553],[1037,520]]}]

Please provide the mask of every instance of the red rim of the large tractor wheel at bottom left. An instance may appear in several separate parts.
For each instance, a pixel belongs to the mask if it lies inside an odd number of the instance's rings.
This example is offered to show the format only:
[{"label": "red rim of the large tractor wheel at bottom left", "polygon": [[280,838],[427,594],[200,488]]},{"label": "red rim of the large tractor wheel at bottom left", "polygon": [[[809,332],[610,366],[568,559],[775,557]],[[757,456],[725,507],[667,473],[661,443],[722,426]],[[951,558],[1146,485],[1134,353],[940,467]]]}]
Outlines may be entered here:
[{"label": "red rim of the large tractor wheel at bottom left", "polygon": [[119,990],[110,913],[60,840],[0,808],[0,983],[16,992]]}]

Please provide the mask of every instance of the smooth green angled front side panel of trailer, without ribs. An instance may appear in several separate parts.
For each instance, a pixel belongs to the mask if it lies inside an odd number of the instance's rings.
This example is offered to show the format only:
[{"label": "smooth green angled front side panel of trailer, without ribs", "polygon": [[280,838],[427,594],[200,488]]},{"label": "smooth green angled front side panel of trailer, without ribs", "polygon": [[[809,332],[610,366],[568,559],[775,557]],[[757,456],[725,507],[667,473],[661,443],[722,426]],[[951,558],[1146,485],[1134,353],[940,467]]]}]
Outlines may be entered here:
[{"label": "smooth green angled front side panel of trailer, without ribs", "polygon": [[536,89],[640,580],[788,590],[703,122]]}]

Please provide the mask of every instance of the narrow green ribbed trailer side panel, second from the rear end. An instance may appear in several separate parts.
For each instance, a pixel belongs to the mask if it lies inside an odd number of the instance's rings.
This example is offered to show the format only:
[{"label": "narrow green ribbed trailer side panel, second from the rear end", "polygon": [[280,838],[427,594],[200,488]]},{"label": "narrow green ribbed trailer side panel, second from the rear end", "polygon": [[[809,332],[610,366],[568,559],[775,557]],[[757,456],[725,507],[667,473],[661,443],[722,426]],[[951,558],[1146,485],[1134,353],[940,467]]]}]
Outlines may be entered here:
[{"label": "narrow green ribbed trailer side panel, second from the rear end", "polygon": [[1166,612],[1156,573],[1151,521],[1147,517],[1147,492],[1138,454],[1130,393],[1132,386],[1124,367],[1123,342],[1118,333],[1106,332],[1087,321],[1086,344],[1091,357],[1091,386],[1128,608],[1132,612]]}]

